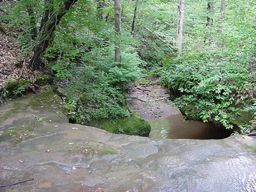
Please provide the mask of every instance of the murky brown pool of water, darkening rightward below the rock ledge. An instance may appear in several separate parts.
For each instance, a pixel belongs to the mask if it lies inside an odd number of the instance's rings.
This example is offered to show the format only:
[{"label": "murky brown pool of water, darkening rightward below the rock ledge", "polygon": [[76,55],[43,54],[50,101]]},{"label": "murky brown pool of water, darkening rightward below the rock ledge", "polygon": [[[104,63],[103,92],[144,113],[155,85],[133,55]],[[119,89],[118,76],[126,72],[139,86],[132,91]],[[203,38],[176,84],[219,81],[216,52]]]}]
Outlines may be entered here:
[{"label": "murky brown pool of water, darkening rightward below the rock ledge", "polygon": [[149,136],[153,139],[218,140],[227,138],[232,133],[227,129],[217,128],[213,124],[189,120],[184,121],[183,116],[180,113],[149,123],[151,125]]}]

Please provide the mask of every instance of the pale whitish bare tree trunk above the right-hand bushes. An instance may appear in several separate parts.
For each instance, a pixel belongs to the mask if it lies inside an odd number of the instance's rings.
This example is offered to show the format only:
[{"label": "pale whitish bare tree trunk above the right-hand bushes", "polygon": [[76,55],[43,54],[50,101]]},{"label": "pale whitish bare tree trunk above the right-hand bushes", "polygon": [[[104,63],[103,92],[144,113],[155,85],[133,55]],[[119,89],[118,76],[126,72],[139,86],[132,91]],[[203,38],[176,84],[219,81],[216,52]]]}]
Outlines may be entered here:
[{"label": "pale whitish bare tree trunk above the right-hand bushes", "polygon": [[185,6],[185,0],[179,0],[178,20],[177,20],[177,36],[176,36],[176,45],[177,45],[177,49],[178,49],[178,55],[180,55],[182,52],[184,6]]}]

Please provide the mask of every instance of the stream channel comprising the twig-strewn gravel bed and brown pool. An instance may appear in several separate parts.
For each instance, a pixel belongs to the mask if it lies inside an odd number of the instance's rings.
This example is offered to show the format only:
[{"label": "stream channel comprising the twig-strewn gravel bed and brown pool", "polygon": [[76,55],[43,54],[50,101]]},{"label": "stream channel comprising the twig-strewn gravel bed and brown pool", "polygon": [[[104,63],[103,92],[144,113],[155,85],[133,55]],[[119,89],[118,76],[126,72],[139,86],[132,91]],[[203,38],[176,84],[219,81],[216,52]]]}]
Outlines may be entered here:
[{"label": "stream channel comprising the twig-strewn gravel bed and brown pool", "polygon": [[168,97],[157,79],[145,79],[128,89],[127,105],[150,123],[150,138],[209,140],[227,138],[232,134],[213,124],[184,121],[179,109],[167,103]]}]

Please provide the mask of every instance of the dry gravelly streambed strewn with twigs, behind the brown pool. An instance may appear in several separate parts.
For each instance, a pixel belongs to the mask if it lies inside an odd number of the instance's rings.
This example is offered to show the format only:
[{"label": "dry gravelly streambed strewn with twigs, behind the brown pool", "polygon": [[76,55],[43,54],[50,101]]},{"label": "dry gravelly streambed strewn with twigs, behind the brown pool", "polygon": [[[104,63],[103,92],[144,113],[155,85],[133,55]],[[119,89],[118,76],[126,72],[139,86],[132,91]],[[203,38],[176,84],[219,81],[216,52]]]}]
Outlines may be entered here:
[{"label": "dry gravelly streambed strewn with twigs, behind the brown pool", "polygon": [[169,95],[159,85],[159,79],[147,78],[129,86],[127,106],[145,120],[157,120],[177,113],[179,109],[167,103]]}]

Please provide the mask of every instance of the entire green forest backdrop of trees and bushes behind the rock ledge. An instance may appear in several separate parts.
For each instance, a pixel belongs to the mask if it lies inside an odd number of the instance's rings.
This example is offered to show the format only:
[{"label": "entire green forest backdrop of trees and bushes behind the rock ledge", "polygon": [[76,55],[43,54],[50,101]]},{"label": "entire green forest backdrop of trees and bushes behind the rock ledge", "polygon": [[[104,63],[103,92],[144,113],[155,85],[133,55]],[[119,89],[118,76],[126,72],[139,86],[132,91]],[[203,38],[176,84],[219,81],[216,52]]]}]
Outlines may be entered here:
[{"label": "entire green forest backdrop of trees and bushes behind the rock ledge", "polygon": [[253,124],[255,1],[0,3],[1,33],[15,29],[31,69],[62,82],[65,110],[80,124],[129,116],[124,92],[143,77],[159,77],[186,118],[241,133]]}]

